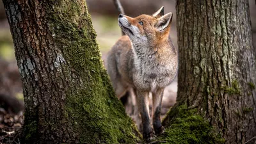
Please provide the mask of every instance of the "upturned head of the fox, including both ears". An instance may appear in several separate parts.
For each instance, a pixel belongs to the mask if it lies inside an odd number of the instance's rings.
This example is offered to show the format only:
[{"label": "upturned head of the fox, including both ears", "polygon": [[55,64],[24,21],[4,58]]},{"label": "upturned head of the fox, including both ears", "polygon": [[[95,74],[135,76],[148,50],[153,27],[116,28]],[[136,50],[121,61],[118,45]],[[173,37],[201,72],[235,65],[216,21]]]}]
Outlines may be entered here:
[{"label": "upturned head of the fox, including both ears", "polygon": [[161,42],[168,38],[172,13],[164,15],[162,6],[153,15],[140,15],[138,17],[128,17],[120,14],[118,25],[129,36],[132,44],[148,45]]}]

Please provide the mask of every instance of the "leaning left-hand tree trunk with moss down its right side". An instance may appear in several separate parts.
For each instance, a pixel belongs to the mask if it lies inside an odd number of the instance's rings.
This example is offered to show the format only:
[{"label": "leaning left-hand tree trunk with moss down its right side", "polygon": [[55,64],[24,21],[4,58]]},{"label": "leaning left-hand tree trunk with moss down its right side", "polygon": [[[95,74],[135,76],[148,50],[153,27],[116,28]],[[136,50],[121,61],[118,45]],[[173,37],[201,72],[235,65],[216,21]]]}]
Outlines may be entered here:
[{"label": "leaning left-hand tree trunk with moss down its right side", "polygon": [[136,143],[84,0],[3,0],[23,82],[22,143]]}]

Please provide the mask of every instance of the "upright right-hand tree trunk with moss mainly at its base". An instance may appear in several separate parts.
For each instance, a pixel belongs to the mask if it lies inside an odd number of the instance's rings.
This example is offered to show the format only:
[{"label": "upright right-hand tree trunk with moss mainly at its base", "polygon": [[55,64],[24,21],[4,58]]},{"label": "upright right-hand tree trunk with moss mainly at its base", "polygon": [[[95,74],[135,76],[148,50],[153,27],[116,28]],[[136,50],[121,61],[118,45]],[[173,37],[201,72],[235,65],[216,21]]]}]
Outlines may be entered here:
[{"label": "upright right-hand tree trunk with moss mainly at its base", "polygon": [[180,0],[176,8],[178,102],[163,120],[161,139],[254,143],[256,49],[248,1]]}]

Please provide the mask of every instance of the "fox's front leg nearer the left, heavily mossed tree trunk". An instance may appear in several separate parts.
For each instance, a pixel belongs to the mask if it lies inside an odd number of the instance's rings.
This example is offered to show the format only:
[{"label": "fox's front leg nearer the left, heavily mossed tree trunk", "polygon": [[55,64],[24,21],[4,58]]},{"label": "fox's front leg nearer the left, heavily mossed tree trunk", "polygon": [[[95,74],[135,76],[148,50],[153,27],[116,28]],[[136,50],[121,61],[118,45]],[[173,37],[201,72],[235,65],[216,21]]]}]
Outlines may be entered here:
[{"label": "fox's front leg nearer the left, heavily mossed tree trunk", "polygon": [[152,140],[154,134],[152,131],[152,127],[150,126],[150,116],[149,116],[149,108],[148,108],[148,93],[149,92],[141,92],[140,90],[136,91],[137,94],[137,102],[138,102],[138,110],[141,116],[142,123],[142,131],[143,138],[146,141]]}]

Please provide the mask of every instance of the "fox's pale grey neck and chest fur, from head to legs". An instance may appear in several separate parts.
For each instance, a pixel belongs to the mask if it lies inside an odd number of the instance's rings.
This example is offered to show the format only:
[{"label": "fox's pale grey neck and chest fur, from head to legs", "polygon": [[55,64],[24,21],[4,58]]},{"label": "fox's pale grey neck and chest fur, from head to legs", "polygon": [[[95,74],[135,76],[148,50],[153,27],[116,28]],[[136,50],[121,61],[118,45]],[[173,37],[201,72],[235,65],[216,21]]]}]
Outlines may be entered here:
[{"label": "fox's pale grey neck and chest fur, from head to legs", "polygon": [[167,37],[157,44],[132,41],[134,85],[156,93],[157,88],[164,88],[170,84],[173,80],[171,76],[175,75],[177,67],[173,65],[176,64],[177,52],[170,38]]}]

